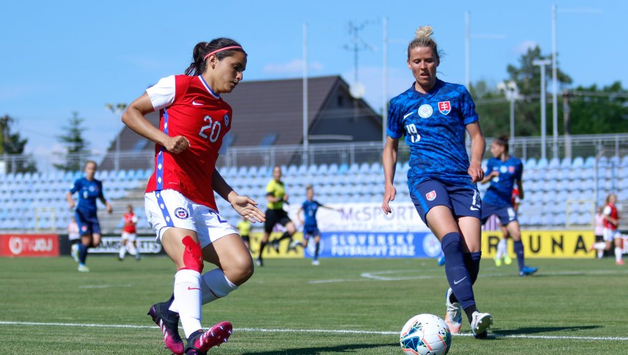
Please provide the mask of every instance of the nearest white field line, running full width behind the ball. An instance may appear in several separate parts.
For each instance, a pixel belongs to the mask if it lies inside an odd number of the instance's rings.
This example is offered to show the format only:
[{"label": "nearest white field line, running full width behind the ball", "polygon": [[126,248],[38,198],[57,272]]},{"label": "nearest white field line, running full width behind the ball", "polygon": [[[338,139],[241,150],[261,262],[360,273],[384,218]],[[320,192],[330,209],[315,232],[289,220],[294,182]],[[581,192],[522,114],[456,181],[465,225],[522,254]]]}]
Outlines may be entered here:
[{"label": "nearest white field line, running full width behind the ball", "polygon": [[[29,325],[29,326],[81,326],[87,328],[124,328],[124,329],[156,329],[157,326],[140,326],[131,324],[83,324],[83,323],[41,323],[41,322],[6,322],[0,325]],[[372,334],[378,336],[398,336],[398,331],[357,331],[351,329],[266,329],[266,328],[236,328],[234,331],[250,331],[257,333],[327,333],[327,334]],[[459,333],[454,336],[472,336],[471,333]],[[522,338],[548,340],[615,340],[628,341],[628,337],[615,336],[532,336],[529,334],[489,334],[489,338]]]}]

